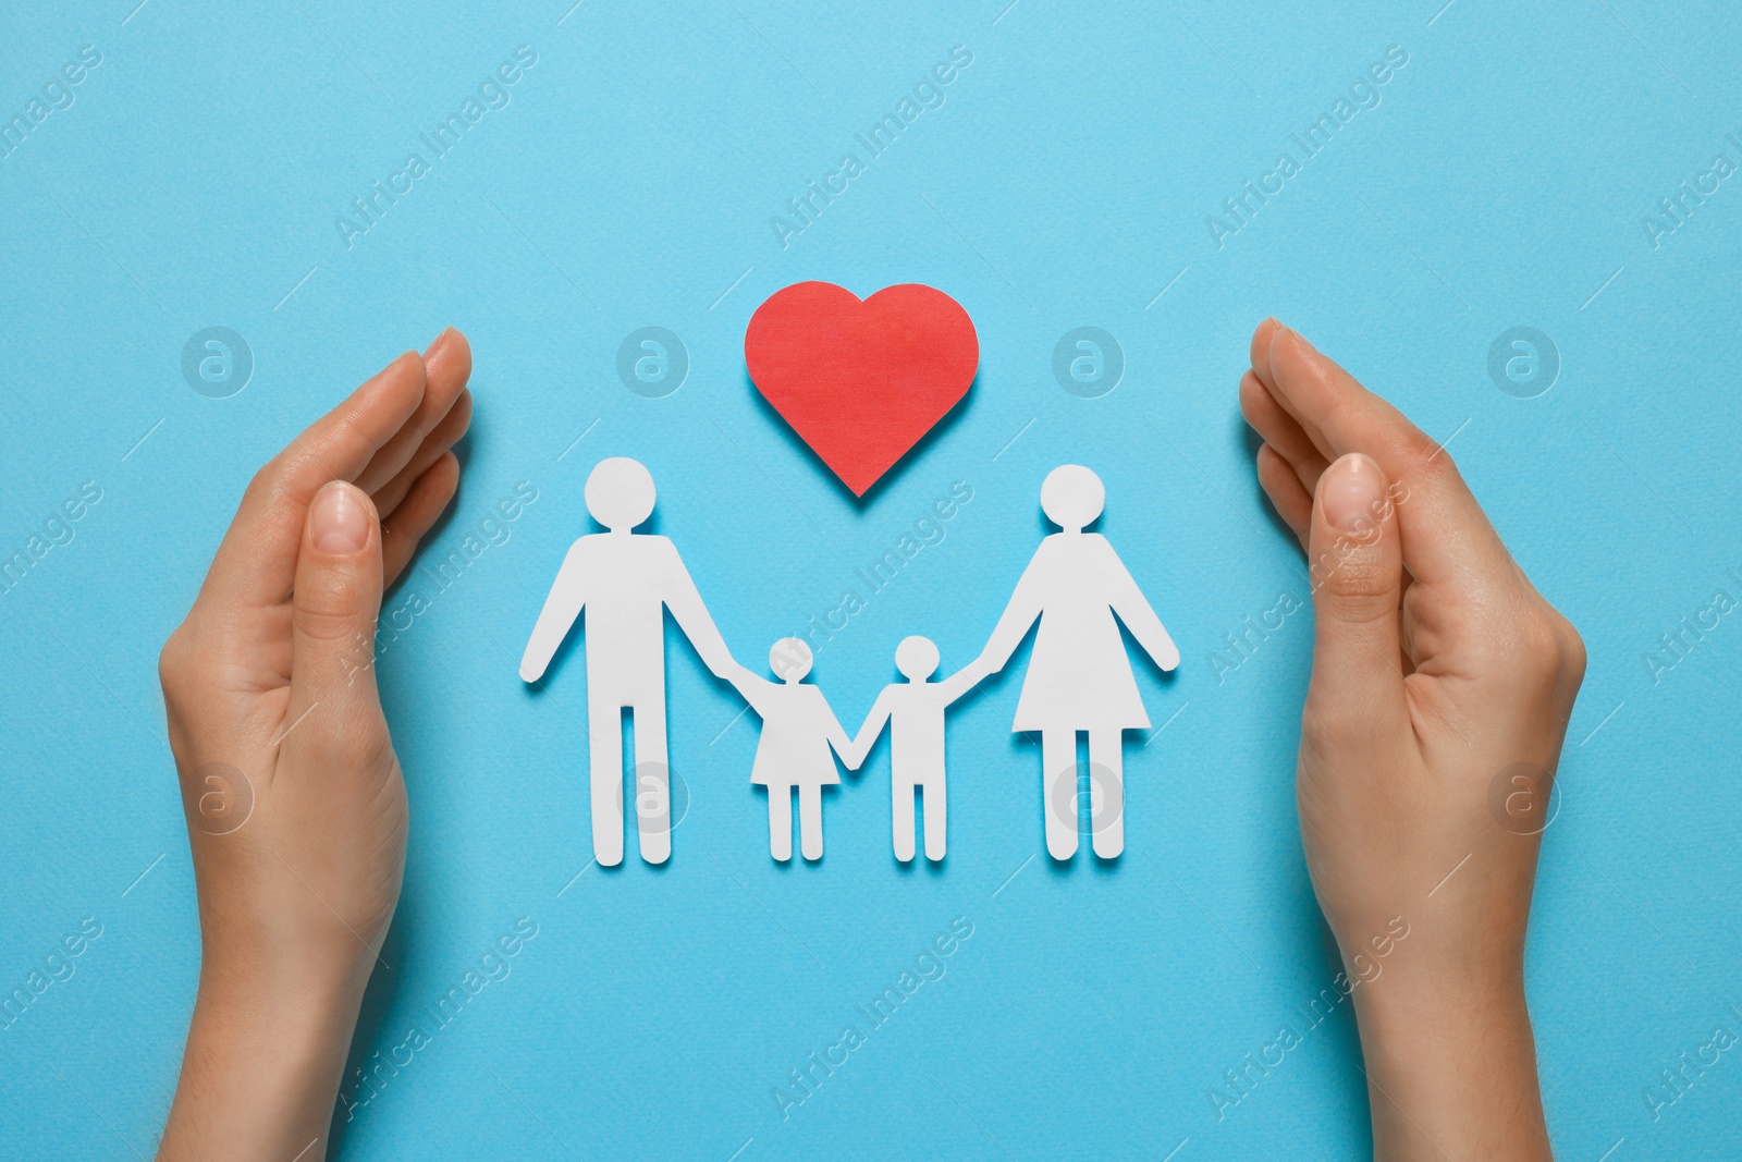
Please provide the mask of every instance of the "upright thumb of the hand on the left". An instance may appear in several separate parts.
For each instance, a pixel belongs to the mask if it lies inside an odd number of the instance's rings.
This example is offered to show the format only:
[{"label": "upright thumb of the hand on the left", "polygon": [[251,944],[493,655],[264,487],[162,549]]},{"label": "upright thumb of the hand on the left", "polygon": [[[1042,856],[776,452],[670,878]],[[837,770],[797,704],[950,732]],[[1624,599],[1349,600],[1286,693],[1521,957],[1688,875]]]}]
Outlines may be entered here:
[{"label": "upright thumb of the hand on the left", "polygon": [[381,610],[381,523],[369,495],[345,481],[315,493],[291,592],[293,726],[317,706],[380,716],[375,618]]}]

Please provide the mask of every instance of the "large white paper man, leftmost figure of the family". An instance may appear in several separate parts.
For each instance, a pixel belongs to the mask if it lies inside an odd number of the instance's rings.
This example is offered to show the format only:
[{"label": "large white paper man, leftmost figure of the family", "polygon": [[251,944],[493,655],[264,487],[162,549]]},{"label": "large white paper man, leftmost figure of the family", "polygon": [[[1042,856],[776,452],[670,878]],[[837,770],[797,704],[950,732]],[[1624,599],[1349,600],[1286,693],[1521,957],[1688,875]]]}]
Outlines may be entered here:
[{"label": "large white paper man, leftmost figure of the family", "polygon": [[636,819],[641,859],[671,855],[665,756],[665,610],[718,678],[737,664],[707,615],[678,547],[636,533],[653,514],[653,476],[636,460],[601,460],[587,477],[587,512],[604,533],[577,540],[550,585],[521,657],[521,678],[538,681],[570,625],[585,610],[587,735],[592,767],[592,854],[624,861],[622,713],[634,716]]}]

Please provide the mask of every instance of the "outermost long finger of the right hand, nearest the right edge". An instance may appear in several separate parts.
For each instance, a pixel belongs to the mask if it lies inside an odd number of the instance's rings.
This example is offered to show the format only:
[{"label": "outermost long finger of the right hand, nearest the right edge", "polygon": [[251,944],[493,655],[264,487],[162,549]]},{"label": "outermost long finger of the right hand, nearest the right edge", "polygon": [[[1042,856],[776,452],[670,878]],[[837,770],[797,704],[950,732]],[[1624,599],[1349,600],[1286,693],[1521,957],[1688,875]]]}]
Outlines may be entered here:
[{"label": "outermost long finger of the right hand, nearest the right edge", "polygon": [[1331,455],[1359,451],[1385,472],[1415,580],[1512,580],[1512,557],[1444,448],[1287,328],[1272,336],[1268,369],[1272,395],[1303,430],[1322,432]]}]

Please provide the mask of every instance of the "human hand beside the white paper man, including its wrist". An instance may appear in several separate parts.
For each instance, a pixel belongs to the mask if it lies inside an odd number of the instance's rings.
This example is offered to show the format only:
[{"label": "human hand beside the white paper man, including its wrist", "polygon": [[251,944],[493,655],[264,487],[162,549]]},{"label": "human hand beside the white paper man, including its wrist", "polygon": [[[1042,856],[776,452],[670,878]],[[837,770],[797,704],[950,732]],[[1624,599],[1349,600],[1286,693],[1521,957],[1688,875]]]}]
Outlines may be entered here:
[{"label": "human hand beside the white paper man, including its wrist", "polygon": [[448,329],[267,463],[164,645],[202,960],[159,1157],[324,1155],[406,854],[375,622],[458,486],[470,371]]}]

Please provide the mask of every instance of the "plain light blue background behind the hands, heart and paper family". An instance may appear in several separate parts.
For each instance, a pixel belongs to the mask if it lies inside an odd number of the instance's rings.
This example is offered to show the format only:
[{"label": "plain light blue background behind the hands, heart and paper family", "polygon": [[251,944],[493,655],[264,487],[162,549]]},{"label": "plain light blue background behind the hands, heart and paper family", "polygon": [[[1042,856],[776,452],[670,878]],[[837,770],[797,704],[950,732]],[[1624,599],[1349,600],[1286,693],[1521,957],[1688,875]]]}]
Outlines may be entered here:
[{"label": "plain light blue background behind the hands, heart and paper family", "polygon": [[[1725,139],[1742,136],[1733,7],[136,2],[0,16],[7,118],[80,45],[103,52],[75,105],[0,160],[3,549],[82,481],[103,488],[77,538],[0,596],[0,984],[80,918],[105,927],[0,1033],[0,1153],[152,1152],[199,963],[157,650],[254,467],[446,324],[472,340],[477,418],[436,551],[519,481],[538,500],[381,659],[413,828],[394,970],[354,1064],[517,918],[538,936],[355,1111],[341,1153],[1364,1153],[1347,1010],[1225,1120],[1207,1098],[1336,969],[1293,803],[1310,618],[1221,683],[1207,662],[1279,592],[1305,596],[1235,406],[1273,312],[1451,441],[1590,646],[1529,944],[1559,1155],[1742,1155],[1742,1059],[1655,1122],[1643,1098],[1742,1003],[1742,627],[1657,683],[1643,660],[1714,591],[1742,596],[1725,571],[1742,568],[1742,178],[1655,249],[1641,226],[1714,153],[1742,160]],[[948,103],[782,249],[770,216],[956,44],[974,63]],[[1409,63],[1383,103],[1218,249],[1205,214],[1394,44]],[[519,45],[538,63],[512,103],[347,249],[350,199],[408,152],[429,160],[416,134]],[[800,279],[927,282],[979,329],[969,402],[868,503],[744,378],[749,314]],[[1528,401],[1486,371],[1521,324],[1563,355]],[[253,347],[230,399],[181,378],[206,326]],[[667,399],[617,380],[641,326],[688,345]],[[1103,399],[1050,376],[1077,326],[1127,355]],[[674,641],[672,761],[693,803],[672,862],[573,880],[591,859],[582,655],[544,697],[516,659],[604,455],[652,467],[658,530],[751,664],[951,483],[972,486],[948,538],[819,652],[852,721],[904,634],[946,662],[979,648],[1043,531],[1040,479],[1092,465],[1103,531],[1185,653],[1171,681],[1139,665],[1153,721],[1178,718],[1127,746],[1125,857],[1026,862],[1038,756],[1009,733],[1012,667],[953,719],[941,869],[890,855],[885,749],[826,803],[822,864],[775,866],[753,719]],[[782,1122],[787,1070],[955,916],[974,937],[948,974]]]}]

